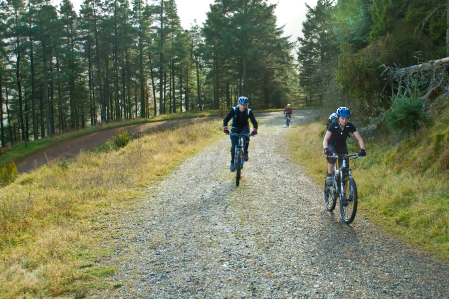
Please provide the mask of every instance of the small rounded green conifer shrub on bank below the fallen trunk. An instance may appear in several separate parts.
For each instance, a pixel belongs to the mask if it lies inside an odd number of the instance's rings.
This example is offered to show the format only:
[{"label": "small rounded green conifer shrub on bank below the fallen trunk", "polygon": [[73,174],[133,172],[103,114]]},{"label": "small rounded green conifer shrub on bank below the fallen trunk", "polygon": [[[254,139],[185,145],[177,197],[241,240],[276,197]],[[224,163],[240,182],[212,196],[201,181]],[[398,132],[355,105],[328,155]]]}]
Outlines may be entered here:
[{"label": "small rounded green conifer shrub on bank below the fallen trunk", "polygon": [[384,112],[384,117],[388,128],[393,132],[415,133],[428,121],[424,103],[420,98],[393,95],[392,102],[391,108]]}]

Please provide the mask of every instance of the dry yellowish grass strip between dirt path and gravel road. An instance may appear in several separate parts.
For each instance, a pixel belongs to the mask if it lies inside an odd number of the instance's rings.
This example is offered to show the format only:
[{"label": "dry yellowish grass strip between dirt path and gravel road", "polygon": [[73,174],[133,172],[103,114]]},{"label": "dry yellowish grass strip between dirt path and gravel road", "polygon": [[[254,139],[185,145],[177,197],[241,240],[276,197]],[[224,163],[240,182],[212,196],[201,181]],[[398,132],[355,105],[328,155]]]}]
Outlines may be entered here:
[{"label": "dry yellowish grass strip between dirt path and gravel road", "polygon": [[101,221],[145,201],[147,186],[222,137],[220,123],[158,132],[117,151],[85,152],[2,188],[0,298],[83,298],[114,271],[95,263],[110,254],[99,245]]}]

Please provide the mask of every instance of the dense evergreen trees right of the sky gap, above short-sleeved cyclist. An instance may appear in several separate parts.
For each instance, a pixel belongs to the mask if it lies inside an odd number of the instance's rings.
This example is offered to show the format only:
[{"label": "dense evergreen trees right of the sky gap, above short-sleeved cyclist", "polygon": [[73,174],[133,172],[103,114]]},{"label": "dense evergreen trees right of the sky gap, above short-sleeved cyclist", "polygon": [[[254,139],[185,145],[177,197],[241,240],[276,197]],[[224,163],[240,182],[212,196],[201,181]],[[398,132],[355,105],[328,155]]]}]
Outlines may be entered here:
[{"label": "dense evergreen trees right of the sky gap, above short-sleeved cyclist", "polygon": [[[306,105],[326,111],[345,105],[356,116],[378,117],[396,95],[422,98],[426,111],[433,99],[448,94],[441,65],[403,71],[449,54],[446,0],[318,0],[307,8],[304,37],[298,38],[298,81]],[[323,32],[331,38],[323,38]],[[321,59],[326,55],[330,62]]]}]

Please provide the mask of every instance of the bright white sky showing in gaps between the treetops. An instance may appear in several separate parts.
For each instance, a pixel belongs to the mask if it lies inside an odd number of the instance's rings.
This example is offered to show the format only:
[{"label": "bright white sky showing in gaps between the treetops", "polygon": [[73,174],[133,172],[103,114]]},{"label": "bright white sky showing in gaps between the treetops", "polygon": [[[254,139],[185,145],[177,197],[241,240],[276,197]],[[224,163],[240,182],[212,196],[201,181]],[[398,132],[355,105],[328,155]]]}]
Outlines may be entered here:
[{"label": "bright white sky showing in gaps between the treetops", "polygon": [[[73,7],[79,11],[84,0],[71,0]],[[151,0],[150,0],[151,1]],[[298,36],[302,36],[302,22],[305,20],[307,12],[305,3],[314,7],[317,0],[268,0],[277,7],[275,15],[277,18],[277,26],[284,27],[284,36],[291,35],[290,41],[295,42]],[[197,23],[203,26],[206,21],[206,13],[210,10],[210,4],[214,4],[215,0],[175,0],[178,7],[178,15],[181,19],[181,26],[184,29],[190,29],[191,25],[197,20]],[[59,5],[60,0],[53,0],[53,3]]]}]

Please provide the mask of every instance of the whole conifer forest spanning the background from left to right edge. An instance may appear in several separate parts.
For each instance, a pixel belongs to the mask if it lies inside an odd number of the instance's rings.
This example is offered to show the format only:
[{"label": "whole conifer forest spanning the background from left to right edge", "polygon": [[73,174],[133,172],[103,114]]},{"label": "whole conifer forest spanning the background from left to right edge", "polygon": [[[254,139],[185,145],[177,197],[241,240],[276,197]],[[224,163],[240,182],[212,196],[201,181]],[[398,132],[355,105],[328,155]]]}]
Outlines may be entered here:
[{"label": "whole conifer forest spanning the background from left to right edge", "polygon": [[317,0],[295,42],[275,7],[215,0],[185,29],[175,0],[0,0],[1,147],[241,95],[363,116],[447,95],[448,0]]}]

